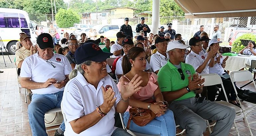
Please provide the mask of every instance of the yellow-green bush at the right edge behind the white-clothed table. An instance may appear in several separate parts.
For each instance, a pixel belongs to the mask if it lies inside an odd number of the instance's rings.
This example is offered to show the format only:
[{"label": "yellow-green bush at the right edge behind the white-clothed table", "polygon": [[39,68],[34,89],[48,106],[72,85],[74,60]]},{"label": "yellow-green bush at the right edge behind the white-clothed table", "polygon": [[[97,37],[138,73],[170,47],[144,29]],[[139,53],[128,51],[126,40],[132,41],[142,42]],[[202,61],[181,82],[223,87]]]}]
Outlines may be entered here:
[{"label": "yellow-green bush at the right edge behind the white-clothed table", "polygon": [[232,43],[232,48],[231,48],[232,51],[238,53],[240,50],[244,48],[244,45],[241,43],[240,39],[256,41],[256,35],[252,33],[247,33],[236,38],[236,40]]}]

